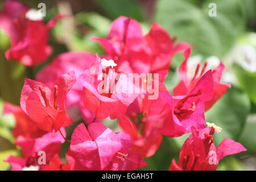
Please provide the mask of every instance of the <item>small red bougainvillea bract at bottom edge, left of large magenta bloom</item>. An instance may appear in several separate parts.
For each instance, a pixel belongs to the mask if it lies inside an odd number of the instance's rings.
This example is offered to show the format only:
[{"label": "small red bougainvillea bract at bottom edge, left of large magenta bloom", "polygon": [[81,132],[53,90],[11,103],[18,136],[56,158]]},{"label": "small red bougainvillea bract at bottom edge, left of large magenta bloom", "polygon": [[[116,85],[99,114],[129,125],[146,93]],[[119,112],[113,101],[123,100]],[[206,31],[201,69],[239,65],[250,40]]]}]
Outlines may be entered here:
[{"label": "small red bougainvillea bract at bottom edge, left of large magenta bloom", "polygon": [[60,160],[58,154],[55,154],[47,165],[41,167],[42,171],[73,171],[75,167],[75,160],[69,155],[66,155],[67,164]]}]

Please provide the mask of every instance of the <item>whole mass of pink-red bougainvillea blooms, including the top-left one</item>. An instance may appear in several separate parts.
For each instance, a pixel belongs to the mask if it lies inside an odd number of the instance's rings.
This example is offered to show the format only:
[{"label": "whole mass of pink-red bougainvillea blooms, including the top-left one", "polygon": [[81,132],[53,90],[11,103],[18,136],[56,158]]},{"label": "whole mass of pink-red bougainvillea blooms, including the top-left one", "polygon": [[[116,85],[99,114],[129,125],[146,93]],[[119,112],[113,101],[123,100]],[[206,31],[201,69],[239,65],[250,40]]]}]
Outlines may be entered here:
[{"label": "whole mass of pink-red bougainvillea blooms, including the top-left one", "polygon": [[[0,13],[0,27],[11,39],[6,58],[29,67],[47,60],[52,51],[47,44],[49,28],[63,18],[57,15],[44,24],[31,14],[29,7],[13,0],[6,0]],[[190,44],[175,43],[176,38],[156,23],[143,35],[140,24],[125,16],[113,21],[108,38],[92,40],[104,47],[105,55],[61,53],[35,80],[24,80],[20,107],[5,103],[4,113],[15,116],[13,136],[22,149],[21,158],[5,159],[12,170],[133,170],[147,165],[144,158],[155,154],[163,136],[191,132],[179,162],[172,160],[170,170],[215,170],[224,156],[246,151],[229,138],[216,148],[213,134],[222,129],[214,123],[205,125],[205,111],[230,88],[220,82],[224,64],[209,69],[206,61],[189,75]],[[179,68],[181,81],[171,95],[164,80],[176,53],[184,53],[184,61]],[[138,80],[158,88],[154,89],[158,97],[152,99],[152,90],[140,88],[136,78],[129,80],[130,74],[152,74],[151,79]],[[69,140],[64,127],[77,115],[84,123],[76,126]],[[102,119],[115,119],[108,122],[117,122],[122,131],[115,133]],[[64,142],[69,143],[67,163],[59,156]]]}]

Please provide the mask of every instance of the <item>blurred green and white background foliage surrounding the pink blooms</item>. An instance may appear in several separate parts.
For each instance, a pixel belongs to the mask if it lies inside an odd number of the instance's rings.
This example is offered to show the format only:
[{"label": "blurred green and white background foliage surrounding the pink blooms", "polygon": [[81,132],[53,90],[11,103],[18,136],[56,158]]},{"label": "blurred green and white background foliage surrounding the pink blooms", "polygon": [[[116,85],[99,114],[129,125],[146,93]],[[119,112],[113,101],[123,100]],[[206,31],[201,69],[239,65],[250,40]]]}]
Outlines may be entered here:
[{"label": "blurred green and white background foliage surrounding the pink blooms", "polygon": [[[218,145],[224,138],[232,138],[247,148],[243,154],[227,156],[221,160],[218,170],[256,170],[256,1],[255,0],[24,0],[37,9],[46,3],[46,22],[59,12],[72,15],[57,23],[49,35],[53,54],[49,59],[29,69],[15,61],[7,61],[4,52],[10,40],[0,29],[0,113],[3,101],[19,104],[24,78],[34,78],[35,73],[50,63],[52,58],[66,51],[90,51],[102,55],[104,50],[90,39],[93,35],[106,37],[110,23],[118,16],[137,19],[146,33],[151,23],[163,26],[178,41],[193,44],[192,56],[217,56],[226,65],[224,82],[232,84],[224,97],[205,114],[206,121],[223,128],[214,136]],[[210,17],[209,3],[216,3],[217,16]],[[0,2],[0,10],[3,7]],[[177,68],[183,55],[174,57],[166,86],[170,93],[179,82]],[[115,122],[104,122],[119,130]],[[7,155],[17,155],[11,128],[15,121],[11,114],[0,115],[0,170],[9,168],[2,160]],[[73,131],[77,123],[68,131]],[[71,135],[71,132],[69,133]],[[164,137],[154,156],[146,159],[145,170],[166,170],[172,158],[179,158],[179,150],[190,134],[178,138]],[[63,155],[68,145],[64,145]]]}]

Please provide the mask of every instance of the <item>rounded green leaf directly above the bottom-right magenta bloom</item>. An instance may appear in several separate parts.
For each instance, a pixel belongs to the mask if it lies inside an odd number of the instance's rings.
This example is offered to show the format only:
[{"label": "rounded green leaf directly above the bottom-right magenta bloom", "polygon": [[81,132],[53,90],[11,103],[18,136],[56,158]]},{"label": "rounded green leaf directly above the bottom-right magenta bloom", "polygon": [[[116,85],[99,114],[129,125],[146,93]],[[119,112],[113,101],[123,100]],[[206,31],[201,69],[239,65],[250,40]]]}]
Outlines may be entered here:
[{"label": "rounded green leaf directly above the bottom-right magenta bloom", "polygon": [[214,144],[224,138],[238,140],[243,131],[250,100],[247,95],[236,88],[228,89],[224,96],[205,113],[205,121],[222,127],[221,133],[214,134]]}]

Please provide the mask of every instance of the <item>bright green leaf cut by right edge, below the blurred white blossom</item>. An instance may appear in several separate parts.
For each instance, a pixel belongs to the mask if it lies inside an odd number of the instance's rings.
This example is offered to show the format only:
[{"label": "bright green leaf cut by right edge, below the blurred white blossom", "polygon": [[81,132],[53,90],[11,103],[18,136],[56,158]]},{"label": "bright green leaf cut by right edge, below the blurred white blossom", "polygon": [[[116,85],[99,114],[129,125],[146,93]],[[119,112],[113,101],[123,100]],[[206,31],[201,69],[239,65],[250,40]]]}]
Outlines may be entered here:
[{"label": "bright green leaf cut by right edge, below the blurred white blossom", "polygon": [[250,99],[256,103],[256,72],[249,72],[235,64],[233,67],[237,80]]}]

